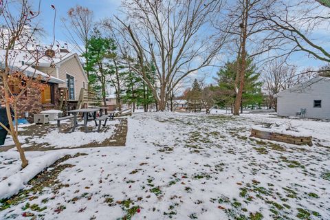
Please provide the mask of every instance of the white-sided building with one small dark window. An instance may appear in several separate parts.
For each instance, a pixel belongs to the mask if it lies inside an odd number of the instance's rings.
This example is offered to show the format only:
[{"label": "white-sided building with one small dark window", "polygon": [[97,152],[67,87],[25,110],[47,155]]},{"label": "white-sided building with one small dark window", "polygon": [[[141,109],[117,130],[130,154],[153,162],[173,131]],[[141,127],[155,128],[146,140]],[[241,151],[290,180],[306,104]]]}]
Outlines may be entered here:
[{"label": "white-sided building with one small dark window", "polygon": [[316,77],[276,94],[279,116],[330,120],[330,78]]}]

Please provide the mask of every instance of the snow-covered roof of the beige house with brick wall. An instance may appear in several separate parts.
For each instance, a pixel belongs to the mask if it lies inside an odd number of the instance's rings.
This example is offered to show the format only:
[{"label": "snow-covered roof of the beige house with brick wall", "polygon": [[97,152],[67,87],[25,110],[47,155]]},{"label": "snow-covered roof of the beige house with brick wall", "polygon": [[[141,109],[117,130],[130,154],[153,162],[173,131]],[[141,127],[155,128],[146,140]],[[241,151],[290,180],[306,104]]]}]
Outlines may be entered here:
[{"label": "snow-covered roof of the beige house with brick wall", "polygon": [[[0,50],[0,65],[4,65],[6,50]],[[39,66],[50,67],[52,64],[56,64],[63,61],[67,53],[58,53],[58,56],[55,55],[54,58],[49,58],[47,56],[42,56],[38,59]],[[64,80],[50,76],[41,72],[38,69],[35,69],[33,66],[36,65],[36,58],[32,56],[31,52],[24,50],[10,50],[8,54],[8,64],[11,69],[17,69],[25,72],[27,76],[42,76],[43,80],[47,80],[50,83],[65,83]]]}]

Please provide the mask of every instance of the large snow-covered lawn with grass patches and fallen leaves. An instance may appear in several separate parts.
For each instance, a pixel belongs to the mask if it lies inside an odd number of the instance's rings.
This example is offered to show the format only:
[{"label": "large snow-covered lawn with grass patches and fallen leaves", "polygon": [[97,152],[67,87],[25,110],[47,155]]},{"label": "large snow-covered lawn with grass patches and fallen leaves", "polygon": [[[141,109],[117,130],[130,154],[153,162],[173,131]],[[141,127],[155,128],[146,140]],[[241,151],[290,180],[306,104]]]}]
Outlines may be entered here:
[{"label": "large snow-covered lawn with grass patches and fallen leaves", "polygon": [[[251,138],[260,122],[290,122],[314,146]],[[47,170],[63,167],[54,183],[3,200],[0,219],[330,219],[330,122],[137,113],[128,130],[123,147],[43,153],[81,154]],[[7,175],[12,153],[0,153]]]}]

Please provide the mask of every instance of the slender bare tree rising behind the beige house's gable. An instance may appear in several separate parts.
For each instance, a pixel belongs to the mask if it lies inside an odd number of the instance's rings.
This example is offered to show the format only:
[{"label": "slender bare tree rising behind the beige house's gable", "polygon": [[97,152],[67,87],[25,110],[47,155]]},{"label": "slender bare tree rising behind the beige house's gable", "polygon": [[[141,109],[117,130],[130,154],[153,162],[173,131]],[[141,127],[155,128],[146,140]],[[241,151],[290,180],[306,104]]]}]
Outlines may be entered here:
[{"label": "slender bare tree rising behind the beige house's gable", "polygon": [[[67,17],[62,18],[65,33],[69,43],[72,43],[76,50],[81,54],[87,54],[87,43],[93,32],[94,12],[89,8],[76,5],[67,11]],[[86,65],[88,61],[85,58]],[[89,77],[89,71],[86,72]]]}]

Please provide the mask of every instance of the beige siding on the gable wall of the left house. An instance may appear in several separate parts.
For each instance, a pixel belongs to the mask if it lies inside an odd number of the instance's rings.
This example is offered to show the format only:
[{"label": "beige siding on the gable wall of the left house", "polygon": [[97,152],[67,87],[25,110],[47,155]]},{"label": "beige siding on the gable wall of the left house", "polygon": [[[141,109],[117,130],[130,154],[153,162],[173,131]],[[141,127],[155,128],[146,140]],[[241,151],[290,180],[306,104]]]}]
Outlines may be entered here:
[{"label": "beige siding on the gable wall of the left house", "polygon": [[[80,68],[78,62],[80,61],[77,61],[76,57],[74,57],[65,61],[60,67],[58,67],[58,78],[61,80],[66,81],[67,74],[74,76],[74,96],[76,101],[79,99],[80,90],[84,87],[84,83],[85,89],[87,89],[87,80],[84,76],[85,73]],[[67,87],[67,84],[60,84],[59,87]]]}]

